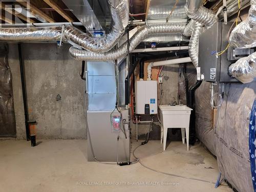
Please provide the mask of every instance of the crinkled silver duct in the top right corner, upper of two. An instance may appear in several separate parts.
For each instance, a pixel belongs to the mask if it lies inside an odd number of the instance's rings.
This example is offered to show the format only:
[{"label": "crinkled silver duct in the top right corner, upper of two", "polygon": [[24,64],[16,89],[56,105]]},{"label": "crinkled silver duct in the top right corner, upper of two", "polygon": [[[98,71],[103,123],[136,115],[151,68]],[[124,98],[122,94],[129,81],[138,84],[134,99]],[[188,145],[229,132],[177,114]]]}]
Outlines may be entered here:
[{"label": "crinkled silver duct in the top right corner, upper of two", "polygon": [[256,0],[251,0],[248,17],[231,32],[229,45],[234,48],[256,47]]}]

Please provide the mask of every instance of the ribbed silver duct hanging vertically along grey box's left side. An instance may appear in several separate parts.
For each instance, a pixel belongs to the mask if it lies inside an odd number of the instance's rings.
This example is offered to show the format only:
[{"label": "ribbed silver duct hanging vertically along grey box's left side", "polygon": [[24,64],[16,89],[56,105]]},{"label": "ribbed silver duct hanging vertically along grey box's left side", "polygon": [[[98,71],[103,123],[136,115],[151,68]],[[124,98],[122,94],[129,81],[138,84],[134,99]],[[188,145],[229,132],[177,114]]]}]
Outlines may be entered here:
[{"label": "ribbed silver duct hanging vertically along grey box's left side", "polygon": [[188,53],[193,65],[196,68],[198,67],[199,35],[202,32],[202,28],[202,24],[198,22],[195,23],[194,31],[191,34],[190,41],[188,44]]}]

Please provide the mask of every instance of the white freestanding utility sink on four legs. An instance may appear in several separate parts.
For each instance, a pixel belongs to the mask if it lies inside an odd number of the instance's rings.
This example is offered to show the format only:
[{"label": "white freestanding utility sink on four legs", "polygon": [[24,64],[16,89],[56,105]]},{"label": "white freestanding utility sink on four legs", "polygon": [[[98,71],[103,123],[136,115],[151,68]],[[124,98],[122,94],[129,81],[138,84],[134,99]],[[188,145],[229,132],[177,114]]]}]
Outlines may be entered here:
[{"label": "white freestanding utility sink on four legs", "polygon": [[161,115],[161,143],[163,140],[163,150],[166,148],[166,137],[168,128],[181,128],[182,142],[185,143],[185,132],[187,141],[187,151],[189,142],[189,120],[191,108],[186,105],[160,105]]}]

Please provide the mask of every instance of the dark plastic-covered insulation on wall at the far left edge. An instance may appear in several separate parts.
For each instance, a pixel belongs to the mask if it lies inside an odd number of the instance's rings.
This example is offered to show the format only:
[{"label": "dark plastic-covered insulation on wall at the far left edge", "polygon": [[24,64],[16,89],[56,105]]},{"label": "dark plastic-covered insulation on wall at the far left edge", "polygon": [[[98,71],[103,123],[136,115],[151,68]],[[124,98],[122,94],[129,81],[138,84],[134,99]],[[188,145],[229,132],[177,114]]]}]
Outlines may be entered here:
[{"label": "dark plastic-covered insulation on wall at the far left edge", "polygon": [[12,74],[7,55],[7,45],[0,45],[0,137],[15,137]]}]

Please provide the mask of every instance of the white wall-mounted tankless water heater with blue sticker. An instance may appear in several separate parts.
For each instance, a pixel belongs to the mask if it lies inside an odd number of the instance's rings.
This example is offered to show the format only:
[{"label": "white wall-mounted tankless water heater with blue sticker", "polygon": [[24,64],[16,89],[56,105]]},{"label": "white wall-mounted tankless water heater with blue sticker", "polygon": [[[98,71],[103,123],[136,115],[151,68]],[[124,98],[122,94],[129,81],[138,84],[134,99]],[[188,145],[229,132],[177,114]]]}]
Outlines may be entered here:
[{"label": "white wall-mounted tankless water heater with blue sticker", "polygon": [[145,106],[150,106],[150,114],[157,114],[157,81],[137,81],[136,113],[145,114]]}]

